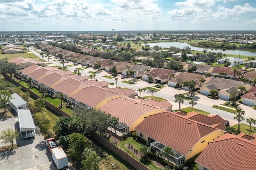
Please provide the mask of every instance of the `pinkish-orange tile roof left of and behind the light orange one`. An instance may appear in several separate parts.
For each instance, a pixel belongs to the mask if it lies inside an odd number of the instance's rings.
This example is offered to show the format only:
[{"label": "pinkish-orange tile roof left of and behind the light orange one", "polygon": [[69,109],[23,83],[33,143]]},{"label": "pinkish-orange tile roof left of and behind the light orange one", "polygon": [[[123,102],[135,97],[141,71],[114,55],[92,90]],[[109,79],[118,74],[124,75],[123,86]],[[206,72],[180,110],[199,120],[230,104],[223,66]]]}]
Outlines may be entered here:
[{"label": "pinkish-orange tile roof left of and behind the light orange one", "polygon": [[[118,96],[118,95],[119,95],[118,93],[114,93],[114,92],[108,91],[107,89],[103,89],[101,87],[96,87],[91,85],[89,87],[79,89],[79,91],[76,91],[69,97],[72,97],[91,107],[95,107],[104,99],[112,96]],[[111,106],[111,109],[115,110],[113,109],[113,106],[114,105]]]}]

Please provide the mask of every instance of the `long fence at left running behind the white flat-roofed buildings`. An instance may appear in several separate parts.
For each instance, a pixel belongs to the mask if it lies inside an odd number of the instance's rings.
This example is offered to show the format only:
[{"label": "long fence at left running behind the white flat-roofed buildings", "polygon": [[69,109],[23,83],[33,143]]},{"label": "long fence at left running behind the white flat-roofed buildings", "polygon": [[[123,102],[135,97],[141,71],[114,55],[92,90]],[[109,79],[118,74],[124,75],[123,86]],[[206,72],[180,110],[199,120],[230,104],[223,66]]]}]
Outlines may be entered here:
[{"label": "long fence at left running behind the white flat-roofed buildings", "polygon": [[[33,96],[36,99],[42,98],[41,96],[37,95],[36,93],[34,93],[33,91],[31,91],[30,89],[28,89],[27,87],[25,87],[24,85],[21,85],[20,83],[18,83],[17,81],[15,81],[14,79],[12,79],[9,75],[7,75],[6,73],[2,73],[2,75],[4,76],[4,78],[8,79],[8,81],[12,82],[14,85],[16,86],[20,86],[22,88],[22,90],[24,91],[29,91],[30,95]],[[42,98],[44,99],[44,98]],[[56,113],[58,113],[61,116],[67,116],[70,117],[70,115],[68,115],[66,112],[62,111],[61,109],[59,109],[58,107],[52,105],[52,103],[49,103],[48,101],[44,100],[44,104],[49,107],[50,109],[52,109],[53,111],[55,111]]]}]

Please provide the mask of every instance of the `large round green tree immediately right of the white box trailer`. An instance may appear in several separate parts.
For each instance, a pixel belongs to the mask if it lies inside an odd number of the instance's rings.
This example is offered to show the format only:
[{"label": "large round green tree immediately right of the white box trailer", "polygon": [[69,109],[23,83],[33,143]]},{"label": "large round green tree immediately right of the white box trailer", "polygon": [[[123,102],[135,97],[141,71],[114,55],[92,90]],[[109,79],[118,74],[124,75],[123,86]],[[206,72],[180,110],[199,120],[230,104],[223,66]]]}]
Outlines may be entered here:
[{"label": "large round green tree immediately right of the white box trailer", "polygon": [[69,135],[69,144],[67,149],[67,155],[74,161],[81,159],[82,152],[86,147],[86,138],[80,133],[72,133]]}]

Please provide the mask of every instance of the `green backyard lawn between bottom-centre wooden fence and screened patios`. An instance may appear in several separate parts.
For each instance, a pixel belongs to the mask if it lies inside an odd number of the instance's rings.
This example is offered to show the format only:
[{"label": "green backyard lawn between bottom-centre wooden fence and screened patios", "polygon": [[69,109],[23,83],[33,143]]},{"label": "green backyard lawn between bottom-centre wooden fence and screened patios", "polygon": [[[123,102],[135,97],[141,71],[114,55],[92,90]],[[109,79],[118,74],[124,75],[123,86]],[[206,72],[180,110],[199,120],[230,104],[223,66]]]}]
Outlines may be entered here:
[{"label": "green backyard lawn between bottom-centre wooden fence and screened patios", "polygon": [[[128,149],[125,147],[125,145],[126,145],[126,144],[129,144],[129,143],[130,143],[130,145],[133,146],[133,148],[135,148],[136,150],[139,150],[140,147],[144,146],[144,145],[140,144],[139,142],[137,142],[136,140],[134,140],[132,137],[129,137],[129,138],[127,138],[127,139],[124,139],[124,140],[120,141],[117,146],[118,146],[119,148],[121,148],[122,150],[124,150],[126,153],[128,153],[130,156],[132,156],[133,158],[135,158],[136,160],[141,161],[140,158],[138,158],[136,155],[133,154],[133,152],[131,152],[130,150],[128,150]],[[152,161],[148,161],[147,163],[148,163],[148,164],[146,164],[146,166],[147,166],[148,168],[152,169],[152,170],[162,170],[162,168],[156,166],[156,164],[154,164],[154,162],[152,162]]]}]

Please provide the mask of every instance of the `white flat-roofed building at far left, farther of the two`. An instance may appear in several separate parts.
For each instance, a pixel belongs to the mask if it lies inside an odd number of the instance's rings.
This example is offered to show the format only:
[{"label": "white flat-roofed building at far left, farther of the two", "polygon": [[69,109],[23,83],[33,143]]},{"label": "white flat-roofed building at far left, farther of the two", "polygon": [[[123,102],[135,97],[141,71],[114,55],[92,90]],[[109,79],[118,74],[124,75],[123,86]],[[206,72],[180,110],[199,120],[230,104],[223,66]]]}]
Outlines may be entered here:
[{"label": "white flat-roofed building at far left, farther of the two", "polygon": [[27,109],[28,103],[24,101],[17,93],[12,94],[12,99],[8,102],[10,107],[18,113],[18,109]]}]

